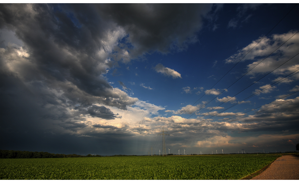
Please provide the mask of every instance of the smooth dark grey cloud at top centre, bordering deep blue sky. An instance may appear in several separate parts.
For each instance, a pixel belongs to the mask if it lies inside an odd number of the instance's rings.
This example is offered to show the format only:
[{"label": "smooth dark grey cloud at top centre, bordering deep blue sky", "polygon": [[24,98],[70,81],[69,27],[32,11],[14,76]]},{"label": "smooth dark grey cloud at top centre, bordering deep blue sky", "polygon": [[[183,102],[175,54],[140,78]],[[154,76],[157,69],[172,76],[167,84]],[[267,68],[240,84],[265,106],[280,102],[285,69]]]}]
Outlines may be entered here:
[{"label": "smooth dark grey cloud at top centre, bordering deep blue sky", "polygon": [[134,50],[132,56],[151,51],[184,50],[197,42],[202,16],[212,4],[98,4],[101,15],[123,27]]}]

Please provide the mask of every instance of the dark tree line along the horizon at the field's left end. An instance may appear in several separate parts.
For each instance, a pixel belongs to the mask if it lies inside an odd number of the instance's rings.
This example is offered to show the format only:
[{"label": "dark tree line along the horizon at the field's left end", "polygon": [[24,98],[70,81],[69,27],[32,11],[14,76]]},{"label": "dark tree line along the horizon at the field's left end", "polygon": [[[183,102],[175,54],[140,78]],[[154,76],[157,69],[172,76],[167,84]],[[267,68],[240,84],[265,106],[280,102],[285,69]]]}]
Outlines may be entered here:
[{"label": "dark tree line along the horizon at the field's left end", "polygon": [[14,150],[1,150],[0,158],[78,158],[78,157],[101,157],[100,155],[88,154],[87,156],[77,154],[54,154],[48,152],[30,152],[30,151],[14,151]]}]

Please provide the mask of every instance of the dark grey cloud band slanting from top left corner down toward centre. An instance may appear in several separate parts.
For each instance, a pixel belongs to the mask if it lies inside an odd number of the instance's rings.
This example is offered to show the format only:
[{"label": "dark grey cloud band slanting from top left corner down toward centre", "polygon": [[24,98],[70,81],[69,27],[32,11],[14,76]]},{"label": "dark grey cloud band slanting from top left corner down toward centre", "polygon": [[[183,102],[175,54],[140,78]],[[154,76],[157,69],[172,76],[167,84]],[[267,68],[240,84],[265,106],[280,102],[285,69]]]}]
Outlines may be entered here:
[{"label": "dark grey cloud band slanting from top left corner down toward centre", "polygon": [[[37,70],[42,71],[42,75],[52,82],[54,79],[70,81],[95,96],[102,96],[105,88],[111,88],[104,79],[97,77],[105,70],[95,73],[92,69],[97,66],[94,53],[87,55],[89,49],[80,42],[80,38],[86,37],[79,36],[82,33],[66,22],[69,19],[62,18],[61,13],[58,13],[60,21],[57,21],[55,14],[50,11],[51,7],[46,5],[16,6],[1,6],[1,28],[13,27],[17,37],[25,43],[30,53],[29,59],[37,64]],[[94,46],[94,52],[99,45],[93,42],[90,41],[90,44]]]}]

